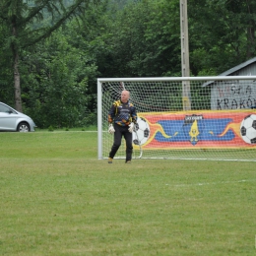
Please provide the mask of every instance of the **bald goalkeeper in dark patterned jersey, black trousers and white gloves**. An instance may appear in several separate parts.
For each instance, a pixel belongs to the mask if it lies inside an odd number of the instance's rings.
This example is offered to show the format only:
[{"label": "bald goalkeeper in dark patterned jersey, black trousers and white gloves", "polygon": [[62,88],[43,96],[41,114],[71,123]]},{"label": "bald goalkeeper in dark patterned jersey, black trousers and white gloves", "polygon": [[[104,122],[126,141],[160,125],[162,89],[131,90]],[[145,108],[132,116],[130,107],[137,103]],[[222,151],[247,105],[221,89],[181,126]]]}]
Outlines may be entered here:
[{"label": "bald goalkeeper in dark patterned jersey, black trousers and white gloves", "polygon": [[129,100],[130,93],[123,91],[121,98],[114,101],[108,112],[108,132],[114,134],[114,143],[109,153],[108,163],[112,160],[118,151],[122,136],[126,141],[126,163],[131,163],[133,153],[133,128],[137,121],[135,106]]}]

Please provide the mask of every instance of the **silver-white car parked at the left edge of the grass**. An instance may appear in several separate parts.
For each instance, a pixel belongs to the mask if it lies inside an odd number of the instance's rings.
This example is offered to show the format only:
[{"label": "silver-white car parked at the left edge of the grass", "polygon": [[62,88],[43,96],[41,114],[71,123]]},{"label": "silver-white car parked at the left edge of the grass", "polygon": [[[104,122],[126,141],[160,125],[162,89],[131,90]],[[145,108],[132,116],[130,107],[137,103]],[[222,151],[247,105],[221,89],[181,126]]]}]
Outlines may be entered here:
[{"label": "silver-white car parked at the left edge of the grass", "polygon": [[33,132],[32,118],[0,102],[0,131]]}]

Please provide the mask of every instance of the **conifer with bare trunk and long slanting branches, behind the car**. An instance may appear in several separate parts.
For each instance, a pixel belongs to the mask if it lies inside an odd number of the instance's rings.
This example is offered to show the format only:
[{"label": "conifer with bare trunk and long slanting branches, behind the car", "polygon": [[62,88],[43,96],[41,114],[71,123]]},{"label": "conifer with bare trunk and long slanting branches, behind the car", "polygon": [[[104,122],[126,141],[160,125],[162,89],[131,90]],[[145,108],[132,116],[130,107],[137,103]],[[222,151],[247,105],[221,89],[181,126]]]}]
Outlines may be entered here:
[{"label": "conifer with bare trunk and long slanting branches, behind the car", "polygon": [[[9,46],[13,57],[13,74],[16,109],[23,111],[21,96],[20,57],[40,40],[60,28],[67,19],[83,14],[90,3],[100,0],[76,0],[65,6],[63,0],[1,0],[0,22],[9,28],[5,46]],[[48,23],[40,23],[45,18]]]}]

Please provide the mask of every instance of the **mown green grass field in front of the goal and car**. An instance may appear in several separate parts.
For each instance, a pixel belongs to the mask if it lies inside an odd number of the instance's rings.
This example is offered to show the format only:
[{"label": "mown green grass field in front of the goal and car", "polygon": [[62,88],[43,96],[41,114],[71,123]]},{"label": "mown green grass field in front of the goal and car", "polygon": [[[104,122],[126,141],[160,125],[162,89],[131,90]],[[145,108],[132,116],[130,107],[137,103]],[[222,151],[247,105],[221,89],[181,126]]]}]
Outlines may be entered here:
[{"label": "mown green grass field in front of the goal and car", "polygon": [[255,162],[96,150],[96,132],[0,133],[0,255],[255,255]]}]

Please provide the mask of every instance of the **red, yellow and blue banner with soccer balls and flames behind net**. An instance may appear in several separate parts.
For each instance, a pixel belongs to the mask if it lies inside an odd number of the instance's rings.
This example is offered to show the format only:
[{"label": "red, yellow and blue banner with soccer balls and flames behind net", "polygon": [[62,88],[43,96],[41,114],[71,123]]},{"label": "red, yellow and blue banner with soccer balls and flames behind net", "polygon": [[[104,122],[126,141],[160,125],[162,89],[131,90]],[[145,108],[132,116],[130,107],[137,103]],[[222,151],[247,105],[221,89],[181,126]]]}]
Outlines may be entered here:
[{"label": "red, yellow and blue banner with soccer balls and flames behind net", "polygon": [[144,150],[253,148],[256,113],[253,109],[138,113],[133,143]]}]

